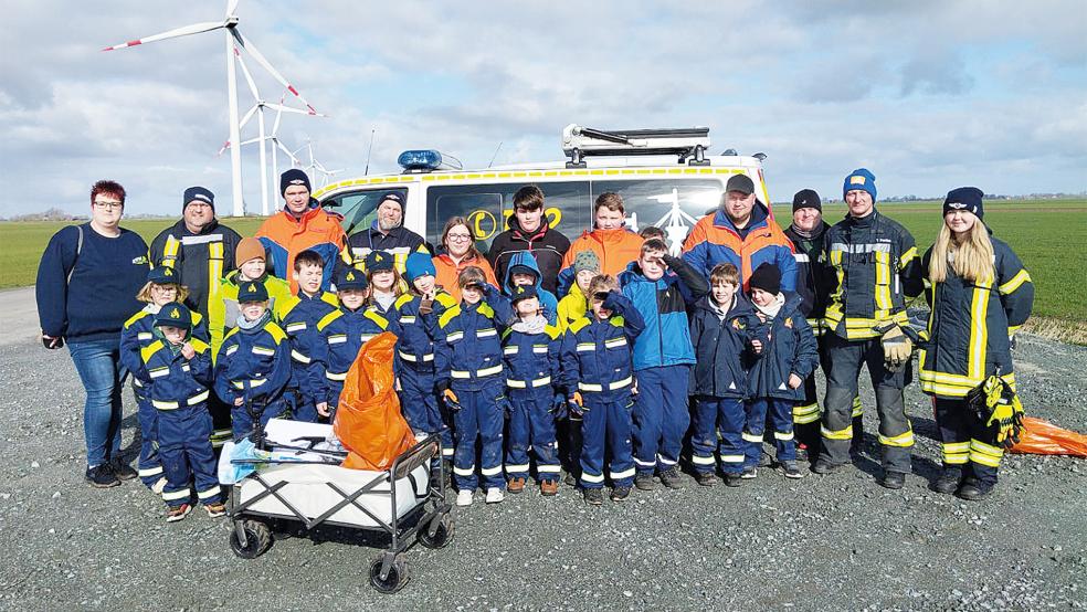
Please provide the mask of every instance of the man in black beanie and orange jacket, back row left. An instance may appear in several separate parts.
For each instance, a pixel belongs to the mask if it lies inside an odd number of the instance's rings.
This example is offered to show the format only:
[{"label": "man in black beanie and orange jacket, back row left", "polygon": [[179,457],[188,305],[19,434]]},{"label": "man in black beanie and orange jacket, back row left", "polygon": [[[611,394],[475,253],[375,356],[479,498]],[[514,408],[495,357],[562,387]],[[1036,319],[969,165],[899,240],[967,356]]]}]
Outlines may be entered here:
[{"label": "man in black beanie and orange jacket, back row left", "polygon": [[292,168],[279,177],[283,210],[267,218],[256,231],[256,238],[272,258],[272,274],[291,283],[291,293],[298,292],[292,276],[294,258],[303,251],[314,251],[324,261],[321,288],[333,283],[337,262],[349,262],[345,247],[347,235],[340,226],[340,215],[328,212],[309,197],[309,177]]}]

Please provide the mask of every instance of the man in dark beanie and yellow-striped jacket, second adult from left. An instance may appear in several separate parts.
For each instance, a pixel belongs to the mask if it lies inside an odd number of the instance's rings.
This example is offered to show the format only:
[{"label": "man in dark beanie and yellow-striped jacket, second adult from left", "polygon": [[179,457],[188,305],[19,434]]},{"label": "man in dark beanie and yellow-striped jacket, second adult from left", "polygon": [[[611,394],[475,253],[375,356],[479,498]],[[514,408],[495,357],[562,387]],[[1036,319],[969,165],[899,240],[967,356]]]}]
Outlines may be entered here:
[{"label": "man in dark beanie and yellow-striped jacket, second adult from left", "polygon": [[189,288],[184,305],[204,318],[219,299],[219,279],[234,270],[234,250],[242,236],[215,219],[215,194],[190,187],[181,197],[181,220],[151,241],[151,264],[172,267]]}]

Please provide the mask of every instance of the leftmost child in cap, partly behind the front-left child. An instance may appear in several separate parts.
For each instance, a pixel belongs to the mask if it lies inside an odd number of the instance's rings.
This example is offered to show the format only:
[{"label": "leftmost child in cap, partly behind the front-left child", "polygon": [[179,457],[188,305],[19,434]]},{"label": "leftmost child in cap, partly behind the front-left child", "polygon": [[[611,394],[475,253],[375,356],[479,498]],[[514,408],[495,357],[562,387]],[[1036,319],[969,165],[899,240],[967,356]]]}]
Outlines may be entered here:
[{"label": "leftmost child in cap, partly behind the front-left child", "polygon": [[[139,420],[139,479],[157,495],[166,486],[162,475],[162,462],[158,456],[158,411],[147,398],[145,387],[150,379],[140,378],[141,348],[151,344],[155,338],[155,315],[167,304],[182,304],[188,292],[178,283],[177,273],[172,268],[159,266],[147,273],[147,284],[136,294],[136,299],[147,304],[133,315],[120,331],[120,362],[133,372],[133,394],[136,397],[137,418]],[[200,313],[192,314],[192,336],[204,342],[209,341],[208,326]]]}]

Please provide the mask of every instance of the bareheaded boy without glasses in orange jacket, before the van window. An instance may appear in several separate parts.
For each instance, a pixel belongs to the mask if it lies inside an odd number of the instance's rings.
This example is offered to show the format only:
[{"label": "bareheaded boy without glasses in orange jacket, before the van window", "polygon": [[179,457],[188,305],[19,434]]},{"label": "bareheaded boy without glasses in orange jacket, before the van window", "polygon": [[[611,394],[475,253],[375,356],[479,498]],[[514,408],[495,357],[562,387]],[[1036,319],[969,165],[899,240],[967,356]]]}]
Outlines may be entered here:
[{"label": "bareheaded boy without glasses in orange jacket, before the van window", "polygon": [[642,254],[642,236],[626,228],[626,209],[623,197],[611,191],[601,193],[593,204],[593,230],[584,231],[570,243],[562,257],[559,273],[559,292],[564,296],[573,282],[573,261],[578,253],[592,251],[600,260],[600,273],[619,276],[626,266]]}]

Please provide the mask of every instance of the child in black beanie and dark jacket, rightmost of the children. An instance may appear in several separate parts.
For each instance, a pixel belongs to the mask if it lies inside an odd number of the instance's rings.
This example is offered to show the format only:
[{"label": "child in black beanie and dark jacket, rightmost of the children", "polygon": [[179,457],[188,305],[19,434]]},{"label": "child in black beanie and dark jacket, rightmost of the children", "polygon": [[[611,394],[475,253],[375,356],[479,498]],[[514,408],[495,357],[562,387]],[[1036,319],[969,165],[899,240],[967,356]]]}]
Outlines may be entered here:
[{"label": "child in black beanie and dark jacket, rightmost of the children", "polygon": [[760,338],[753,340],[759,359],[749,374],[750,397],[743,441],[747,453],[742,478],[754,478],[762,455],[767,421],[773,426],[778,463],[789,478],[804,477],[796,466],[792,407],[804,399],[804,379],[819,363],[815,335],[798,309],[800,297],[781,293],[781,272],[763,263],[748,279],[751,303],[762,321]]}]

